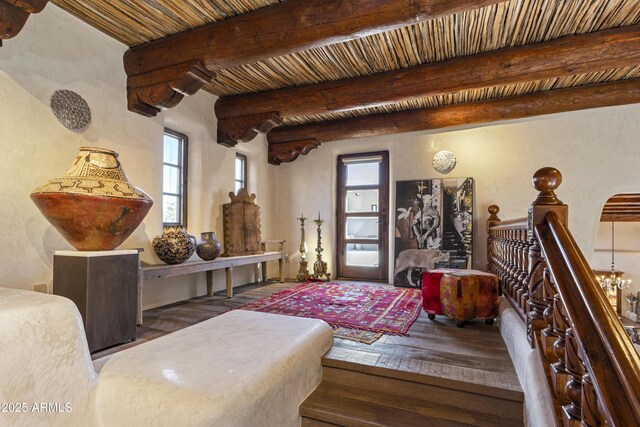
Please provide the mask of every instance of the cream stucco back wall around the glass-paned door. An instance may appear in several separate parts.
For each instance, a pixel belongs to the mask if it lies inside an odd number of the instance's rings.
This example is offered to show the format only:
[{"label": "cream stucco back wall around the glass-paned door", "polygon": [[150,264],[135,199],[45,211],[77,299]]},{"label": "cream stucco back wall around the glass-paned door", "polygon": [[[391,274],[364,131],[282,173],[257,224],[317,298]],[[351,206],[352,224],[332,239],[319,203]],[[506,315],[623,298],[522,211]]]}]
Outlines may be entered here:
[{"label": "cream stucco back wall around the glass-paned door", "polygon": [[[440,150],[452,151],[458,163],[448,176],[475,179],[474,266],[486,265],[487,208],[500,206],[499,217],[525,217],[536,197],[531,176],[544,166],[563,174],[558,191],[569,205],[569,226],[589,259],[600,212],[613,194],[640,191],[640,105],[600,108],[511,121],[466,130],[409,134],[328,142],[293,163],[279,166],[277,234],[294,242],[290,269],[297,271],[301,212],[321,211],[325,260],[333,274],[335,252],[336,157],[340,154],[389,150],[391,211],[395,210],[395,181],[438,178],[432,165]],[[390,230],[394,230],[394,219]],[[393,234],[390,239],[390,279],[393,270]],[[315,230],[307,232],[307,260],[315,260]]]}]

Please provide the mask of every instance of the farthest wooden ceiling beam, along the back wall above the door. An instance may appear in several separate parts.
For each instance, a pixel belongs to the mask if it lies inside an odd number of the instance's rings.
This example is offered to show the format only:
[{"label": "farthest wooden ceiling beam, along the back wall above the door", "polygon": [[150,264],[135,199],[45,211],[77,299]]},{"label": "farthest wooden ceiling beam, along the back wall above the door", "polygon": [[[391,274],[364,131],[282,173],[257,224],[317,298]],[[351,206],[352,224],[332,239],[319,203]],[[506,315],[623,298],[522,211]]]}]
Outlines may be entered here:
[{"label": "farthest wooden ceiling beam, along the back wall above the door", "polygon": [[279,165],[323,142],[489,123],[640,102],[640,79],[598,83],[445,107],[283,127],[267,134],[268,161]]}]

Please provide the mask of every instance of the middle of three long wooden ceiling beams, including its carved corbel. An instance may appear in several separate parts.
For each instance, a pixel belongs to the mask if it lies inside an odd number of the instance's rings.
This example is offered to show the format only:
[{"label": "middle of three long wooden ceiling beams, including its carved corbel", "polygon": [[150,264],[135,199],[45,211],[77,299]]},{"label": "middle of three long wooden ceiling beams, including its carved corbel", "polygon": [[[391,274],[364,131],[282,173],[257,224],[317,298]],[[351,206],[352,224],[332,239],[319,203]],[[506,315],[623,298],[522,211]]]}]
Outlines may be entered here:
[{"label": "middle of three long wooden ceiling beams, including its carved corbel", "polygon": [[367,77],[220,98],[218,143],[246,141],[249,118],[281,121],[393,104],[465,90],[573,76],[640,64],[640,26],[568,36]]}]

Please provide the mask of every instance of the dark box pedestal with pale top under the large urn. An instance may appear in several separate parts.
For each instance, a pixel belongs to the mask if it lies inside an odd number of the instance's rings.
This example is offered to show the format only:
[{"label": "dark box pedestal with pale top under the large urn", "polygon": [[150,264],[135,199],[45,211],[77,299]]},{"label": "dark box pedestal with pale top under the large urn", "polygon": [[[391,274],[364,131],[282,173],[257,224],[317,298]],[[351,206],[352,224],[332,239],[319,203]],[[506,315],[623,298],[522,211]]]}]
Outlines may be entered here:
[{"label": "dark box pedestal with pale top under the large urn", "polygon": [[53,293],[73,301],[89,351],[136,339],[138,251],[57,251]]}]

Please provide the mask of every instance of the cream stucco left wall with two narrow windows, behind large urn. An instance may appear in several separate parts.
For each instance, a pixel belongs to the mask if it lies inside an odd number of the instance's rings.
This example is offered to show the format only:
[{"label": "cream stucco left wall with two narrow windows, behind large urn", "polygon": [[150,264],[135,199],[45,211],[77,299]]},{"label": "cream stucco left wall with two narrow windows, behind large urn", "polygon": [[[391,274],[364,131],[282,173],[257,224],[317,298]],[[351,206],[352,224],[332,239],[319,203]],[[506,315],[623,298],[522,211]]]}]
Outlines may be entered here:
[{"label": "cream stucco left wall with two narrow windows, behind large urn", "polygon": [[[126,46],[49,4],[20,34],[0,48],[0,286],[32,289],[52,281],[53,252],[72,249],[29,199],[29,193],[61,176],[81,146],[120,153],[131,182],[156,201],[143,223],[120,248],[145,249],[143,261],[160,262],[151,240],[162,232],[162,133],[165,126],[189,137],[189,232],[216,231],[222,238],[222,208],[234,188],[234,149],[216,144],[215,96],[200,91],[178,107],[147,118],[126,108]],[[92,110],[84,133],[64,128],[49,109],[58,89],[79,93]],[[258,195],[262,235],[273,239],[274,169],[266,162],[264,137],[238,146],[249,159],[249,190]],[[194,255],[195,257],[195,255]],[[251,267],[234,271],[237,283],[253,280]],[[205,292],[203,275],[148,281],[146,307]],[[217,272],[216,289],[224,288]]]}]

